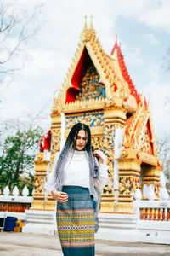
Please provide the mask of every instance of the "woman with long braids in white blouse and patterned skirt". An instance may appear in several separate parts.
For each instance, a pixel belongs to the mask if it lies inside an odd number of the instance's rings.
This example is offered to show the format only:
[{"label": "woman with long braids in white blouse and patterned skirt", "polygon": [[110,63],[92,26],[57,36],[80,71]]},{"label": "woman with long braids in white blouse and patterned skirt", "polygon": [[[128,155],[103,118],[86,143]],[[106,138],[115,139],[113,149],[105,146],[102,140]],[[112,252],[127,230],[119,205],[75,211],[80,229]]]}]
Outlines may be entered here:
[{"label": "woman with long braids in white blouse and patterned skirt", "polygon": [[100,150],[93,153],[88,125],[74,125],[61,153],[55,155],[46,185],[58,201],[58,232],[65,256],[94,255],[92,198],[97,198],[96,190],[101,192],[107,178],[107,159]]}]

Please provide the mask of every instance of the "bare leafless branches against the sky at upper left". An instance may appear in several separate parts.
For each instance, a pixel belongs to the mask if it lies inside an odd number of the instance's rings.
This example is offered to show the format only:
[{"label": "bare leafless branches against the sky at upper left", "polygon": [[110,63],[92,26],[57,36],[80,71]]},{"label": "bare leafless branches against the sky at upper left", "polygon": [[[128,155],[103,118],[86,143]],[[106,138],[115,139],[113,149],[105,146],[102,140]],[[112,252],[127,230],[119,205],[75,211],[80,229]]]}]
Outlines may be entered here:
[{"label": "bare leafless branches against the sky at upper left", "polygon": [[28,41],[39,31],[40,14],[40,5],[29,13],[26,4],[19,0],[0,0],[0,82],[4,75],[22,67],[20,57]]}]

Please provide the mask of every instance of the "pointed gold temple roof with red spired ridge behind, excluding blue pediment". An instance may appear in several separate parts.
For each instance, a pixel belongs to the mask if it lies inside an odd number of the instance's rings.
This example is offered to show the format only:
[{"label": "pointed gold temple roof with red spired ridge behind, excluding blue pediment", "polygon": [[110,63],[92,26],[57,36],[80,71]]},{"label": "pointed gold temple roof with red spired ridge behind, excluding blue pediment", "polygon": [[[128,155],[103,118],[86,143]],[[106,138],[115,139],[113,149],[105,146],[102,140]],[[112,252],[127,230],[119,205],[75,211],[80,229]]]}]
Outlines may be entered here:
[{"label": "pointed gold temple roof with red spired ridge behind, excluding blue pediment", "polygon": [[[58,99],[54,101],[53,113],[56,113],[57,109],[61,109],[63,106],[79,104],[76,96],[80,92],[82,78],[91,62],[99,73],[99,83],[105,84],[105,101],[101,100],[100,102],[99,99],[96,99],[95,103],[102,107],[105,104],[107,106],[113,104],[112,102],[115,99],[121,99],[125,103],[125,108],[133,109],[133,113],[139,103],[139,94],[127,73],[117,41],[111,55],[107,55],[100,44],[99,38],[96,37],[92,20],[88,28],[86,19],[80,40],[81,43],[78,44],[71,67],[59,91]],[[94,101],[89,100],[90,108],[92,108]],[[86,103],[81,102],[80,104]],[[95,106],[97,105],[95,104]]]}]

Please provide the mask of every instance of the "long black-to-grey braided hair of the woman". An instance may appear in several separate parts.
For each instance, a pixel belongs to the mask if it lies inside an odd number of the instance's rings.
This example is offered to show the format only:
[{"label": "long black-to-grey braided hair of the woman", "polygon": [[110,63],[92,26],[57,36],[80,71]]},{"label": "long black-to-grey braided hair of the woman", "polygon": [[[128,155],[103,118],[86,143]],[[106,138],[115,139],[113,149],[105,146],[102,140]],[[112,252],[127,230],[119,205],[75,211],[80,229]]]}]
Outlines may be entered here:
[{"label": "long black-to-grey braided hair of the woman", "polygon": [[[87,152],[88,156],[88,165],[89,165],[89,175],[90,175],[90,194],[94,195],[94,177],[98,177],[99,175],[99,166],[97,164],[97,161],[94,159],[93,150],[92,150],[92,144],[91,144],[91,131],[88,127],[88,125],[77,123],[71,128],[71,131],[65,141],[65,145],[63,149],[61,150],[61,153],[59,154],[59,160],[57,161],[57,165],[54,172],[54,186],[55,189],[61,191],[62,184],[63,184],[63,177],[64,177],[64,170],[65,165],[67,161],[69,160],[69,154],[72,153],[71,157],[74,154],[74,151],[76,149],[76,143],[77,143],[77,136],[78,132],[80,130],[84,130],[85,133],[88,135],[88,141],[83,148]],[[72,150],[71,150],[72,148]]]}]

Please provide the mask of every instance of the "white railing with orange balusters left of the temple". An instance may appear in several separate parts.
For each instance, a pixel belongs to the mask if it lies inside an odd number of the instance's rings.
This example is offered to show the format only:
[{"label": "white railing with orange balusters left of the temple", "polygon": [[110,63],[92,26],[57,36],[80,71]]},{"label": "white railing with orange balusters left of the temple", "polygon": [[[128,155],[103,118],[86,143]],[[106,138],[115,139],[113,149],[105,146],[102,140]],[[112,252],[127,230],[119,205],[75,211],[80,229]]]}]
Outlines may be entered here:
[{"label": "white railing with orange balusters left of the temple", "polygon": [[12,195],[8,186],[3,189],[3,195],[0,195],[0,212],[16,212],[24,213],[31,207],[32,196],[28,196],[27,187],[22,190],[22,195],[19,195],[19,189],[14,187]]}]

